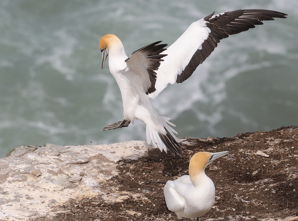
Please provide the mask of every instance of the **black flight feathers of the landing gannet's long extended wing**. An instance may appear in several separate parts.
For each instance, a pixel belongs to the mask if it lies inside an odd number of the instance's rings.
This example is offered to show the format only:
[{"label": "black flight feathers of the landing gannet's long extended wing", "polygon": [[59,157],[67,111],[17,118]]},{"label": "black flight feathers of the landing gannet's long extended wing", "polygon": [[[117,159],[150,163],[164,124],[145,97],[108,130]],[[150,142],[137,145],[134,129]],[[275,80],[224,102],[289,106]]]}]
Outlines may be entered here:
[{"label": "black flight feathers of the landing gannet's long extended wing", "polygon": [[187,66],[177,75],[176,82],[182,83],[188,79],[195,69],[204,62],[212,53],[221,39],[229,35],[238,34],[254,28],[255,25],[263,24],[262,21],[274,20],[274,18],[287,18],[283,12],[265,10],[265,9],[238,9],[224,12],[214,16],[214,12],[206,16],[206,26],[211,30],[208,38],[202,43],[201,49],[198,49]]}]

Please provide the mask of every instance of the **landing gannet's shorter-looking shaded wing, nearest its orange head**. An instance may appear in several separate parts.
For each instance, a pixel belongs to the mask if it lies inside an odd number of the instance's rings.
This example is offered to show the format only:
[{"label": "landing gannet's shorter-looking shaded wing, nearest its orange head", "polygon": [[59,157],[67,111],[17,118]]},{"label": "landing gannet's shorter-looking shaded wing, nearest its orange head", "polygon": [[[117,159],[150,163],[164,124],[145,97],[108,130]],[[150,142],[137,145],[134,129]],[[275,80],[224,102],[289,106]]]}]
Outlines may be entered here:
[{"label": "landing gannet's shorter-looking shaded wing, nearest its orange head", "polygon": [[155,91],[156,70],[160,62],[164,61],[162,58],[166,54],[161,54],[167,44],[159,44],[154,42],[145,47],[140,48],[125,60],[128,70],[139,75],[142,79],[143,88],[146,94]]}]

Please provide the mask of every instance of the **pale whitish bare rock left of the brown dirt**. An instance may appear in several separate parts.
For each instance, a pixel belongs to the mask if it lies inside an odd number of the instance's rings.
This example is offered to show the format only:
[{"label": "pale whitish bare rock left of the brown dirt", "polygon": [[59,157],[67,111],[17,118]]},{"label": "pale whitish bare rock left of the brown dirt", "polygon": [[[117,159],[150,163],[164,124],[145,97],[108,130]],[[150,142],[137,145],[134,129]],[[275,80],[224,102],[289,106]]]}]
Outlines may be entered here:
[{"label": "pale whitish bare rock left of the brown dirt", "polygon": [[15,148],[0,159],[0,220],[51,216],[51,206],[70,198],[104,196],[98,185],[118,175],[118,162],[147,151],[145,141]]}]

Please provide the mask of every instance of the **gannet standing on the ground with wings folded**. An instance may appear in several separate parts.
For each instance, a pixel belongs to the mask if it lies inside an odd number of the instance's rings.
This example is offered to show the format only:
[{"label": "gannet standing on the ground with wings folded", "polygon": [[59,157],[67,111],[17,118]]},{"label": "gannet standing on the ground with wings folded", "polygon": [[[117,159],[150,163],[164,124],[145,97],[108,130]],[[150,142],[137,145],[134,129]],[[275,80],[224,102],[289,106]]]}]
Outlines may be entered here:
[{"label": "gannet standing on the ground with wings folded", "polygon": [[215,187],[205,174],[205,168],[213,160],[229,154],[229,151],[218,153],[198,152],[189,162],[189,175],[167,181],[164,186],[164,199],[167,208],[182,218],[197,218],[207,213],[214,204]]}]

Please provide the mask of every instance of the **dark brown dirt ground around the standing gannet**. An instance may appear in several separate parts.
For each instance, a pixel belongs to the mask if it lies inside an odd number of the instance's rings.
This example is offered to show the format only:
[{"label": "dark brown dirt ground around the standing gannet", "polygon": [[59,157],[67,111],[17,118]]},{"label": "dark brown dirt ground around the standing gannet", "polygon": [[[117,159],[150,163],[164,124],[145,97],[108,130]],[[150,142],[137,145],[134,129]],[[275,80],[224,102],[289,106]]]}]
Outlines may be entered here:
[{"label": "dark brown dirt ground around the standing gannet", "polygon": [[[166,182],[188,174],[189,159],[199,151],[230,151],[205,170],[215,184],[216,197],[213,208],[200,220],[298,215],[298,127],[240,133],[232,138],[186,137],[181,147],[182,158],[154,149],[142,159],[123,161],[118,166],[120,175],[99,186],[110,194],[122,193],[122,202],[108,203],[101,196],[72,200],[58,208],[67,212],[54,220],[178,220],[174,212],[167,210],[164,185],[146,183]],[[256,155],[258,150],[269,157]]]}]

